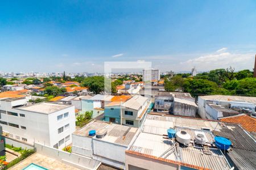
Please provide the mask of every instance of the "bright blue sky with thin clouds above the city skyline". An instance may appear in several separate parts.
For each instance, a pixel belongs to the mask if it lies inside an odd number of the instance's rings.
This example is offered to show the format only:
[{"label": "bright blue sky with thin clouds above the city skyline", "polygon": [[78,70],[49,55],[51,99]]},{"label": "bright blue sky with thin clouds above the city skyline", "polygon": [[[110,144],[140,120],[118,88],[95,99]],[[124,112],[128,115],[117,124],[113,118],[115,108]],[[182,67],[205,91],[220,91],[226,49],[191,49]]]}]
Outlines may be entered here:
[{"label": "bright blue sky with thin clouds above the city skyline", "polygon": [[160,71],[252,70],[255,0],[1,1],[0,71],[102,73],[104,62]]}]

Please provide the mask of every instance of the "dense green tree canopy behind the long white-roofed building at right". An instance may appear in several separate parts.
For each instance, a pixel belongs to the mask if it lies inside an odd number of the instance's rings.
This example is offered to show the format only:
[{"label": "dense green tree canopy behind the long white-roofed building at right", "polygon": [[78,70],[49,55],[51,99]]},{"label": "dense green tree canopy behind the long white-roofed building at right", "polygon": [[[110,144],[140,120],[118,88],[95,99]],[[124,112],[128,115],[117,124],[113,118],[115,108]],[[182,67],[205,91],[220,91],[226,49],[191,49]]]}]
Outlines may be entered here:
[{"label": "dense green tree canopy behind the long white-roofed building at right", "polygon": [[177,74],[171,79],[165,79],[166,91],[183,90],[197,95],[245,95],[256,96],[256,78],[250,70],[234,73],[234,69],[216,69],[209,73],[200,73],[193,77],[184,78]]}]

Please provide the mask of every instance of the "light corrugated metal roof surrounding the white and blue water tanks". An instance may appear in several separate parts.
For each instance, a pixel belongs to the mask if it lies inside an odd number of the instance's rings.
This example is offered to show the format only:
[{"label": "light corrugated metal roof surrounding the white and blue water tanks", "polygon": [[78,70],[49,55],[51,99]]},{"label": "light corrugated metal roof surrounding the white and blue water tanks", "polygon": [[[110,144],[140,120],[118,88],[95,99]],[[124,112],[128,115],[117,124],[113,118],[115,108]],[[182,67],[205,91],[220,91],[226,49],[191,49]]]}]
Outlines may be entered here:
[{"label": "light corrugated metal roof surrounding the white and blue water tanks", "polygon": [[[129,150],[209,169],[230,169],[222,152],[210,145],[213,143],[213,133],[201,130],[203,127],[210,130],[221,128],[216,121],[148,114],[141,127],[141,133]],[[190,146],[175,144],[164,137],[168,128],[187,131],[192,139],[195,139],[197,133],[204,133],[209,145],[205,146],[206,148],[196,148],[202,146],[193,142]]]}]

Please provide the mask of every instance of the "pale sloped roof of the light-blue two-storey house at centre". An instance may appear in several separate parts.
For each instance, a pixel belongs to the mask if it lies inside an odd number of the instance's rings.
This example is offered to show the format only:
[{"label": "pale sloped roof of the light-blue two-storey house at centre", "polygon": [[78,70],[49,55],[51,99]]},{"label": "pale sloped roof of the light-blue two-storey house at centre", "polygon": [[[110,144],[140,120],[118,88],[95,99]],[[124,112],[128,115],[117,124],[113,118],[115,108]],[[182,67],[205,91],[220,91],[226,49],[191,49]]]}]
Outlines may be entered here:
[{"label": "pale sloped roof of the light-blue two-storey house at centre", "polygon": [[143,97],[140,95],[135,95],[131,97],[131,99],[127,100],[122,104],[123,107],[131,108],[138,110],[144,103],[148,100],[148,97]]}]

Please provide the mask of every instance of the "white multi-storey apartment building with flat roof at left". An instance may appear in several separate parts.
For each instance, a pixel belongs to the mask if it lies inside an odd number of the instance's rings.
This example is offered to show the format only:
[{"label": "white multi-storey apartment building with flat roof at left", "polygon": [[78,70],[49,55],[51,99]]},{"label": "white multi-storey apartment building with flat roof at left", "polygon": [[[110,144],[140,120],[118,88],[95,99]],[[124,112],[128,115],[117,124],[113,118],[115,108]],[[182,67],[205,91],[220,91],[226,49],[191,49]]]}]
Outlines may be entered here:
[{"label": "white multi-storey apartment building with flat roof at left", "polygon": [[17,141],[49,147],[69,145],[76,130],[75,107],[55,103],[29,104],[25,98],[0,100],[3,132]]}]

